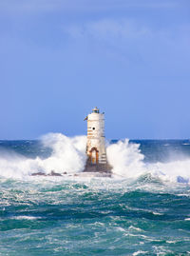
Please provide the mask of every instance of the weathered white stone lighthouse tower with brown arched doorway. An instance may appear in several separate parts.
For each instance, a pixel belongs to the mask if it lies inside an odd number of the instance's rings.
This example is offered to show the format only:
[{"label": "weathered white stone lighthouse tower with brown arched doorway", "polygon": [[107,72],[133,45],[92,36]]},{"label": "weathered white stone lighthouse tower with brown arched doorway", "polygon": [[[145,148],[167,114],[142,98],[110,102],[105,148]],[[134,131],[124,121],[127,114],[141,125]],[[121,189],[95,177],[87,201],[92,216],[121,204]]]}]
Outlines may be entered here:
[{"label": "weathered white stone lighthouse tower with brown arched doorway", "polygon": [[93,108],[85,120],[87,120],[87,161],[84,171],[111,173],[104,145],[104,113],[100,113],[97,107]]}]

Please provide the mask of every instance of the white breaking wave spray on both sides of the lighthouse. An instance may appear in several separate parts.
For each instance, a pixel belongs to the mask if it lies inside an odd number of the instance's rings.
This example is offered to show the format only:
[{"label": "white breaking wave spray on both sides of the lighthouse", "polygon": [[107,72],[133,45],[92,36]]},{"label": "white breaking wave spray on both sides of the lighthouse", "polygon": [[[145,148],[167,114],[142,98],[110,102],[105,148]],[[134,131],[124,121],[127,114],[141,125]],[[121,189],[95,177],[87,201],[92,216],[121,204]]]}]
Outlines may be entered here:
[{"label": "white breaking wave spray on both sides of the lighthouse", "polygon": [[[78,173],[85,167],[86,137],[66,137],[61,133],[49,133],[41,138],[41,149],[50,149],[50,154],[45,158],[36,148],[37,156],[33,159],[19,154],[12,149],[1,147],[0,150],[0,176],[7,178],[25,178],[32,173],[42,172],[50,174]],[[184,146],[187,147],[187,146]],[[189,183],[190,158],[181,160],[168,160],[167,163],[144,162],[144,155],[140,144],[131,143],[128,139],[108,144],[106,148],[107,159],[113,167],[113,177],[124,179],[138,179],[151,177],[163,182]],[[155,152],[152,151],[152,154]]]}]

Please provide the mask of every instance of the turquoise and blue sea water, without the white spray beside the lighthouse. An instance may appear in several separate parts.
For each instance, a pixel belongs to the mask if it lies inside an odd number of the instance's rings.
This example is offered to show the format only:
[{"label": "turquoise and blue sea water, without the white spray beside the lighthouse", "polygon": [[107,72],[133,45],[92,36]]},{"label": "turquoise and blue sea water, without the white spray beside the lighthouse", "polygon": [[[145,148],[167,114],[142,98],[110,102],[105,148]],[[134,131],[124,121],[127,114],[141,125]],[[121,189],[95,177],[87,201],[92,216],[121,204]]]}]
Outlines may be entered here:
[{"label": "turquoise and blue sea water, without the white spray beside the lighthouse", "polygon": [[[28,158],[51,154],[37,142],[2,144],[6,155],[10,148]],[[168,147],[180,161],[190,155],[187,142],[142,141],[143,162],[165,163]],[[0,198],[0,255],[190,255],[190,187],[183,180],[150,172],[135,179],[1,172]]]}]

